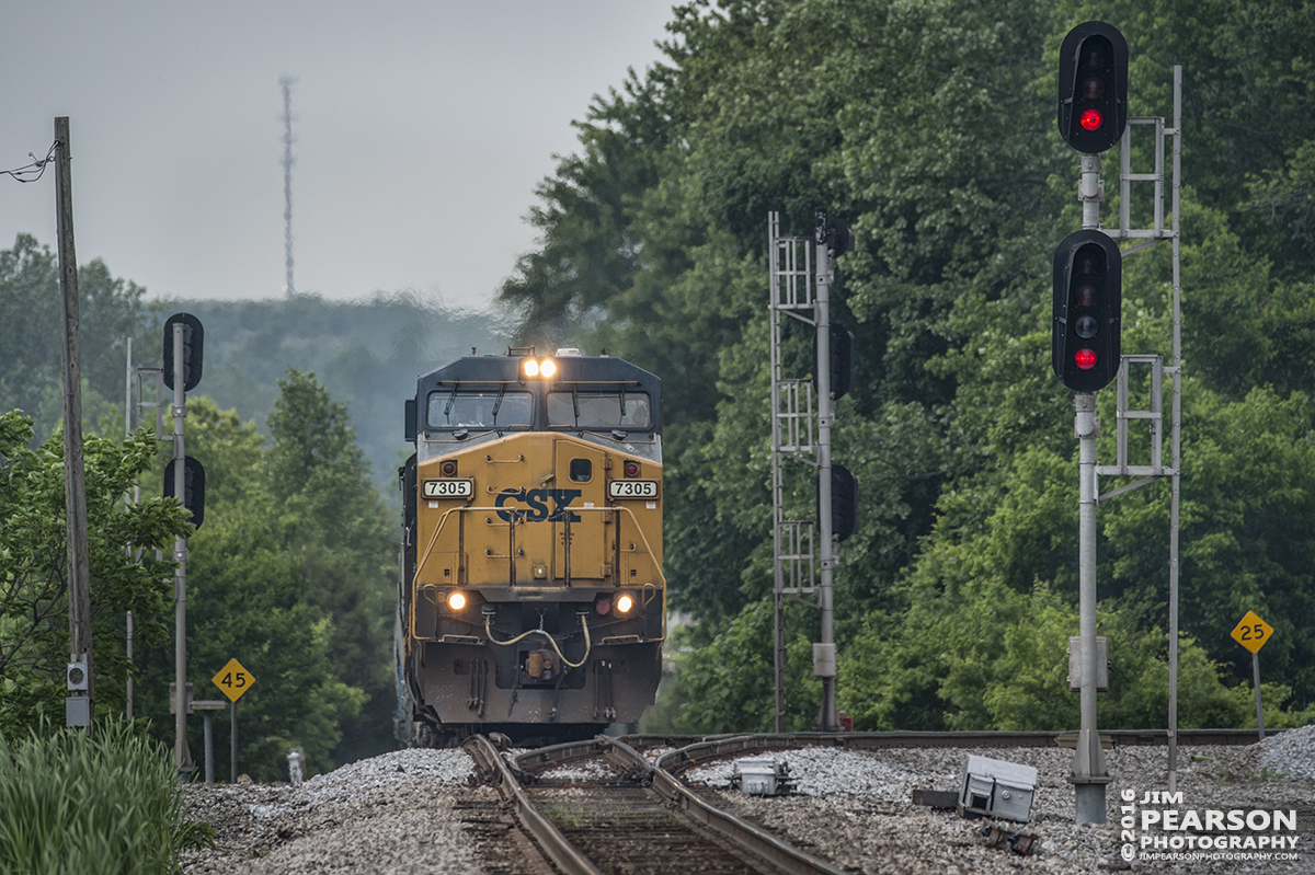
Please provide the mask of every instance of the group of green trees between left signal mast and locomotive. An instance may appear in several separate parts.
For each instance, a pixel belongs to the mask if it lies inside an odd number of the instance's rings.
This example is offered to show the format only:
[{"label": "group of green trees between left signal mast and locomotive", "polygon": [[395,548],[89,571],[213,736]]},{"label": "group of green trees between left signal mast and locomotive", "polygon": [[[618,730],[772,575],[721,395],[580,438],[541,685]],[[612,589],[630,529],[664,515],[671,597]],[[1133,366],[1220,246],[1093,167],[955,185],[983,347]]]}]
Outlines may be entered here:
[{"label": "group of green trees between left signal mast and locomotive", "polygon": [[[188,403],[188,452],[206,470],[205,526],[188,544],[188,677],[205,699],[230,658],[256,678],[239,704],[238,767],[263,779],[293,746],[321,771],[394,745],[391,519],[343,405],[297,369],[279,388],[268,447],[234,411]],[[172,657],[143,660],[145,711],[166,733]],[[226,762],[227,728],[216,734]]]}]

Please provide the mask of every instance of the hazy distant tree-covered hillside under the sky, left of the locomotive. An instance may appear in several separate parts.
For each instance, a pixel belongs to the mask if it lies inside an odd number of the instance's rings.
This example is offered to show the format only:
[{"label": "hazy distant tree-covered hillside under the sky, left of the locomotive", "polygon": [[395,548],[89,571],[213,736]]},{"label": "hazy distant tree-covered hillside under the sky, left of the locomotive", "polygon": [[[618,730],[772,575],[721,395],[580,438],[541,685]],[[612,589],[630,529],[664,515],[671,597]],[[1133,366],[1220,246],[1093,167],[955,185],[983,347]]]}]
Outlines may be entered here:
[{"label": "hazy distant tree-covered hillside under the sky, left of the locomotive", "polygon": [[[20,234],[0,251],[0,410],[36,420],[38,439],[59,424],[59,273],[55,256]],[[255,419],[262,432],[287,368],[314,370],[351,415],[375,483],[391,489],[401,453],[402,398],[416,377],[458,356],[500,352],[501,327],[413,292],[359,301],[301,294],[275,301],[146,298],[100,259],[78,271],[84,427],[121,434],[126,342],[139,368],[159,367],[163,319],[191,313],[205,327],[204,381],[224,409]],[[505,347],[504,347],[505,348]],[[153,389],[146,382],[147,394]],[[110,426],[110,418],[117,422]]]}]

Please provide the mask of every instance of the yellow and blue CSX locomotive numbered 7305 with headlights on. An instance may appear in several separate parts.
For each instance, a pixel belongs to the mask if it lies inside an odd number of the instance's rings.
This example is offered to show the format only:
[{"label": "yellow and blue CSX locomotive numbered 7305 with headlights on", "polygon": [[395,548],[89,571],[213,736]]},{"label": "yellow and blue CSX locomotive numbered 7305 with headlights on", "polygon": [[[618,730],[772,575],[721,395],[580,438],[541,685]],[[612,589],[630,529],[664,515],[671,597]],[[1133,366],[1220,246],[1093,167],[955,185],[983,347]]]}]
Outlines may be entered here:
[{"label": "yellow and blue CSX locomotive numbered 7305 with headlights on", "polygon": [[667,635],[661,393],[576,349],[467,356],[406,401],[398,687],[418,744],[635,723]]}]

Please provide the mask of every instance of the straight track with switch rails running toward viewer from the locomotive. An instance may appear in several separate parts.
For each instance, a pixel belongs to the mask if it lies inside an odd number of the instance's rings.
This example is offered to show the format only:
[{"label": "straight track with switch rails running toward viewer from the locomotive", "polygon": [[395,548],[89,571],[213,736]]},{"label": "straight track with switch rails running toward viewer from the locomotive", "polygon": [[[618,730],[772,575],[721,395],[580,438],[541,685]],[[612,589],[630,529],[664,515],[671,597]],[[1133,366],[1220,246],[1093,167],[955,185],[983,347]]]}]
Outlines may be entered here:
[{"label": "straight track with switch rails running toward viewer from the locomotive", "polygon": [[[843,872],[710,804],[621,740],[543,748],[510,766],[483,737],[467,750],[567,875]],[[572,776],[540,776],[564,763],[577,766]]]}]

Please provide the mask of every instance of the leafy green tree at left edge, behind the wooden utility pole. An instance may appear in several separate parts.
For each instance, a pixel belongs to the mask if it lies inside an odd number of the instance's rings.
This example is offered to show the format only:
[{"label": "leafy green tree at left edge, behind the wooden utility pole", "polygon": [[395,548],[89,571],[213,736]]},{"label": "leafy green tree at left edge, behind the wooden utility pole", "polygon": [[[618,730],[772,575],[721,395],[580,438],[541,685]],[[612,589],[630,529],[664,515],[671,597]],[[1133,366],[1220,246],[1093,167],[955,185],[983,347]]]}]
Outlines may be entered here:
[{"label": "leafy green tree at left edge, behind the wooden utility pole", "polygon": [[[11,737],[62,712],[68,660],[67,529],[63,436],[30,449],[32,418],[0,415],[0,732]],[[191,526],[174,499],[124,506],[134,480],[151,465],[155,441],[138,432],[116,443],[83,443],[89,548],[92,646],[97,715],[124,704],[128,661],[122,617],[142,617],[135,635],[160,642],[153,620],[172,598],[174,565],[153,561]],[[137,564],[129,552],[147,554]],[[62,720],[62,717],[60,717]]]}]

